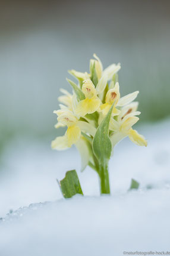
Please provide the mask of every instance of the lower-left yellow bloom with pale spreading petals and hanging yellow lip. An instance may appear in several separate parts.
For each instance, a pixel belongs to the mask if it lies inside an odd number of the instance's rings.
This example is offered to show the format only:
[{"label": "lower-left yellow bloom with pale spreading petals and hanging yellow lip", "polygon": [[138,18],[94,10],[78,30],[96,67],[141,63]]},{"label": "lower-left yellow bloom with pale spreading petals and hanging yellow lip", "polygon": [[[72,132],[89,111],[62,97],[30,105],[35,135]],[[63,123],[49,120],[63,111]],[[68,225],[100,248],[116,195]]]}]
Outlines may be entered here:
[{"label": "lower-left yellow bloom with pale spreading petals and hanging yellow lip", "polygon": [[[64,136],[56,137],[52,141],[52,148],[57,150],[67,149],[80,139],[81,131],[94,136],[96,129],[87,122],[78,121],[77,117],[68,109],[54,111],[58,115],[58,124],[67,126]],[[59,126],[58,125],[58,126]]]}]

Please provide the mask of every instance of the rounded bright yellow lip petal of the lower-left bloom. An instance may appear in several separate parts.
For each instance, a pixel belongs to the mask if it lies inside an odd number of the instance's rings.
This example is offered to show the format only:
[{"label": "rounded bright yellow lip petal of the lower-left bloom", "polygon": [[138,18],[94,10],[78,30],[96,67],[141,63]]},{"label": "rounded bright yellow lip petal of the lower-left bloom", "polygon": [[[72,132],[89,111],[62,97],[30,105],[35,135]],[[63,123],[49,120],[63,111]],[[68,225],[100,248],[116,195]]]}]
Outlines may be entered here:
[{"label": "rounded bright yellow lip petal of the lower-left bloom", "polygon": [[79,140],[81,136],[81,130],[77,125],[72,125],[71,127],[68,127],[65,135],[67,135],[68,147],[71,147]]}]

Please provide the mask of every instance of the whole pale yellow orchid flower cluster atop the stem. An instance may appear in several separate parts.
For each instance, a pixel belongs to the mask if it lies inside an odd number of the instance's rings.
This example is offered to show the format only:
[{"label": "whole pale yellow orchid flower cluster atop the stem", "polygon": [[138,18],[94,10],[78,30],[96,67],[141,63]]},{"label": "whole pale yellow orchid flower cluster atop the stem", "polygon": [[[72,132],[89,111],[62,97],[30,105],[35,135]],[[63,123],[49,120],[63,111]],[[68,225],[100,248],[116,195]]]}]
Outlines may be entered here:
[{"label": "whole pale yellow orchid flower cluster atop the stem", "polygon": [[67,127],[67,131],[52,141],[52,148],[64,150],[75,144],[83,156],[82,169],[88,164],[97,169],[93,138],[111,107],[108,135],[112,149],[127,136],[138,146],[147,146],[144,137],[132,128],[140,115],[137,111],[138,102],[134,101],[138,91],[121,97],[117,74],[121,69],[120,64],[111,64],[103,70],[100,59],[96,54],[93,56],[95,59],[90,60],[90,73],[69,71],[78,80],[78,84],[67,79],[73,94],[61,89],[63,95],[58,98],[60,109],[54,111],[58,116],[55,128]]}]

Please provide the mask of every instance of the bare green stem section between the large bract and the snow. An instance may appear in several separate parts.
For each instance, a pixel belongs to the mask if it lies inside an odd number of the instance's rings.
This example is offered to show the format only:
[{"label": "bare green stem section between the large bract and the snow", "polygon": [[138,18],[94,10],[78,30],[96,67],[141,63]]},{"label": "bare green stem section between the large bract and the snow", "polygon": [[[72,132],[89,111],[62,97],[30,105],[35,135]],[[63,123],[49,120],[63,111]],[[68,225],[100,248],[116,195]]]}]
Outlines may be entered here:
[{"label": "bare green stem section between the large bract and the snow", "polygon": [[100,193],[110,194],[109,172],[107,165],[99,165]]}]

